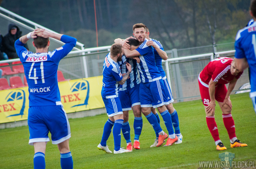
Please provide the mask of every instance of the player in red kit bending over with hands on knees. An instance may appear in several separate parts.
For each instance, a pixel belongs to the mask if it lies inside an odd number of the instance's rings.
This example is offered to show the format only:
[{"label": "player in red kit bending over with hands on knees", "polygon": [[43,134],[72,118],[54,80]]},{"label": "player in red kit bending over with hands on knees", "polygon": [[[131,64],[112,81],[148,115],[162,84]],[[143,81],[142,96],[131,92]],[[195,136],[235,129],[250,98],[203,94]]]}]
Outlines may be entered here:
[{"label": "player in red kit bending over with hands on knees", "polygon": [[[207,126],[215,141],[217,150],[226,150],[226,147],[219,139],[219,132],[214,119],[215,100],[217,100],[222,109],[222,118],[229,134],[231,148],[247,146],[247,144],[241,143],[236,138],[234,119],[231,115],[232,104],[229,98],[241,74],[243,74],[243,71],[240,72],[236,68],[236,62],[233,59],[219,57],[209,62],[198,76],[200,94],[206,112]],[[227,83],[229,83],[228,89],[225,86]]]}]

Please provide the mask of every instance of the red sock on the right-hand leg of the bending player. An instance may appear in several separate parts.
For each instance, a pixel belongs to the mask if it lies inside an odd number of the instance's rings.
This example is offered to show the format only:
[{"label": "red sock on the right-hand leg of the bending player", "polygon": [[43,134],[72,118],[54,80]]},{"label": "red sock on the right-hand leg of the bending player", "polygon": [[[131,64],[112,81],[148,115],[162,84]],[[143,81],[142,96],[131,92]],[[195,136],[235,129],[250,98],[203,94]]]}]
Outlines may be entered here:
[{"label": "red sock on the right-hand leg of the bending player", "polygon": [[226,130],[228,131],[229,134],[229,139],[231,140],[232,138],[236,137],[236,129],[235,129],[235,123],[234,119],[231,115],[229,114],[222,114],[224,126],[226,127]]}]

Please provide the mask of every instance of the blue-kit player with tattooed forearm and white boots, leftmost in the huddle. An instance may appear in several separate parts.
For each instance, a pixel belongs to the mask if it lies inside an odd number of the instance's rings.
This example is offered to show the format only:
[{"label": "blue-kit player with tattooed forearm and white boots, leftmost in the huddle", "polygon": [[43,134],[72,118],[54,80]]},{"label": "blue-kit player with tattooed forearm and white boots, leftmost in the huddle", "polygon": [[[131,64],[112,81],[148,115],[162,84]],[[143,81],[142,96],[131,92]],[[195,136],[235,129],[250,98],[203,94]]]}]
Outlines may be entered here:
[{"label": "blue-kit player with tattooed forearm and white boots, leftmost in the huddle", "polygon": [[123,85],[131,73],[131,65],[126,62],[127,73],[122,76],[121,68],[118,62],[122,61],[122,45],[111,45],[110,52],[105,57],[103,63],[103,80],[101,96],[107,109],[108,120],[103,129],[101,143],[98,145],[99,150],[106,153],[112,153],[107,146],[107,140],[113,127],[114,136],[114,154],[131,152],[121,148],[121,127],[123,125],[123,111],[120,99],[118,98],[119,84]]}]

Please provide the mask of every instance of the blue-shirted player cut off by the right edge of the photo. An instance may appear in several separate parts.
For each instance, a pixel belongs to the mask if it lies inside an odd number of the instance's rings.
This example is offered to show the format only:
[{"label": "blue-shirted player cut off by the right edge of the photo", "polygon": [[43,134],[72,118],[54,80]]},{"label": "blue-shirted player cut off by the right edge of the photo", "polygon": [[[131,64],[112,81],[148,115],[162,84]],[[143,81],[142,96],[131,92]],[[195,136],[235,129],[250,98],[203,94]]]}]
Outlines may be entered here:
[{"label": "blue-shirted player cut off by the right edge of the photo", "polygon": [[[251,2],[250,14],[256,21],[256,0]],[[256,113],[256,22],[237,32],[235,50],[237,68],[242,71],[250,67],[250,98]]]}]

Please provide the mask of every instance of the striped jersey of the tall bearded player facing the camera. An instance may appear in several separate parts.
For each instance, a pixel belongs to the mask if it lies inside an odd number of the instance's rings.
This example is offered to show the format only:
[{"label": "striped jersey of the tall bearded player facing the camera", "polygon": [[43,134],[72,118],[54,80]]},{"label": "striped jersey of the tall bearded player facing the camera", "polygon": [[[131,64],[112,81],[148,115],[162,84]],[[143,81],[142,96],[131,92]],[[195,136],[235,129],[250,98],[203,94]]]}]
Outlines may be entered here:
[{"label": "striped jersey of the tall bearded player facing the camera", "polygon": [[161,73],[155,63],[153,47],[146,45],[147,42],[148,39],[145,38],[144,42],[136,49],[141,55],[140,63],[137,63],[137,67],[143,83],[162,79]]}]

